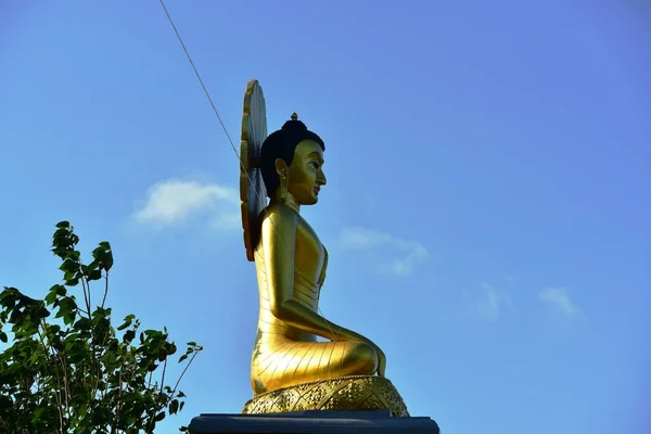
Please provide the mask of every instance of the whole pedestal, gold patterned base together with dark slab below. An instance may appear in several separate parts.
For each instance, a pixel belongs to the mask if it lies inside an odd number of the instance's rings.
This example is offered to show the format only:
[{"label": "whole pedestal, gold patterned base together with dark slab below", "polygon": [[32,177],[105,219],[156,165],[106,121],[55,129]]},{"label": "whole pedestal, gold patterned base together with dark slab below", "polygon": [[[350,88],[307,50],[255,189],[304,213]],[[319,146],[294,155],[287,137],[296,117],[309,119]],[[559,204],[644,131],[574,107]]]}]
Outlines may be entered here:
[{"label": "whole pedestal, gold patterned base together with dark slab below", "polygon": [[201,414],[193,434],[422,433],[439,434],[430,418],[411,418],[391,381],[350,375],[258,395],[242,414]]}]

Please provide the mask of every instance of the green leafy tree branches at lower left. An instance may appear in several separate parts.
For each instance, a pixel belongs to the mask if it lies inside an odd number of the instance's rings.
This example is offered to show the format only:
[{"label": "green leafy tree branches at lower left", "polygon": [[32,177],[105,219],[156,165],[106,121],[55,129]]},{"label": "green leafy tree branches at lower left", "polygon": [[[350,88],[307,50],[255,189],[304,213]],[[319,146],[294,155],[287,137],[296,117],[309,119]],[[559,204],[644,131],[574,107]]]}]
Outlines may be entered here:
[{"label": "green leafy tree branches at lower left", "polygon": [[[169,382],[177,347],[167,329],[141,331],[133,315],[114,328],[105,307],[111,244],[101,242],[86,265],[78,242],[69,222],[56,225],[52,252],[63,284],[44,299],[15,288],[0,293],[0,432],[151,433],[183,408],[178,385],[202,347],[188,343],[184,369]],[[101,304],[93,304],[92,282],[101,285]]]}]

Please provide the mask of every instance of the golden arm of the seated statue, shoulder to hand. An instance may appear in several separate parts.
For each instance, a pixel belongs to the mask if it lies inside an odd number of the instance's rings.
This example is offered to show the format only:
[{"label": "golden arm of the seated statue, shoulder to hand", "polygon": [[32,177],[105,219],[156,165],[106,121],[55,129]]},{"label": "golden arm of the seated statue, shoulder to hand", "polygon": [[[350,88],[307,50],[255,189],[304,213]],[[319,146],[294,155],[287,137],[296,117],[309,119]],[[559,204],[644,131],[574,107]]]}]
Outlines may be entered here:
[{"label": "golden arm of the seated statue, shoulder to hand", "polygon": [[271,314],[298,330],[331,341],[370,343],[362,335],[328,321],[293,299],[297,226],[298,216],[284,206],[268,209],[267,217],[263,221],[263,251],[266,258]]}]

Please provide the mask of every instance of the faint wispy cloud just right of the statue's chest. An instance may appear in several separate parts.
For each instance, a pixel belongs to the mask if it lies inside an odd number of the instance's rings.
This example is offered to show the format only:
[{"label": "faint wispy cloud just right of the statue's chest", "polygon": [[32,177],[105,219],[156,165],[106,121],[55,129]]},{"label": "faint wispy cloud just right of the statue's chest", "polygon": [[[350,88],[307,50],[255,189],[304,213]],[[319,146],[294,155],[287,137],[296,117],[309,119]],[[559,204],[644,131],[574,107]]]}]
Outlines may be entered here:
[{"label": "faint wispy cloud just right of the statue's chest", "polygon": [[427,248],[417,241],[404,240],[365,228],[344,228],[340,233],[339,241],[340,245],[349,250],[386,247],[399,257],[382,265],[380,270],[397,276],[410,275],[416,266],[424,263],[430,256]]}]

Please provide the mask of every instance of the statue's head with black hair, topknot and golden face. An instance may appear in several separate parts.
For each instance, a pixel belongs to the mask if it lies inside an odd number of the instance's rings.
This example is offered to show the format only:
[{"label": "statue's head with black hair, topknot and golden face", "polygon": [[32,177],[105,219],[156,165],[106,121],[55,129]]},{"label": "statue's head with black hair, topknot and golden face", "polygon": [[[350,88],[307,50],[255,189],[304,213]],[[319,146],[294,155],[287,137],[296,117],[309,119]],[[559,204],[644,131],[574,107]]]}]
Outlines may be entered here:
[{"label": "statue's head with black hair, topknot and golden face", "polygon": [[280,130],[267,137],[260,150],[260,170],[267,195],[296,205],[314,205],[326,184],[321,138],[294,113]]}]

